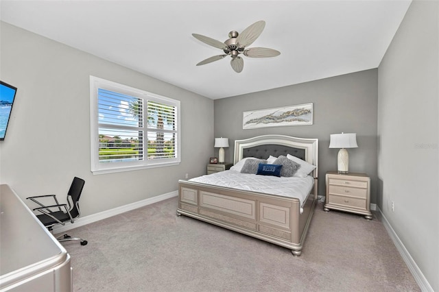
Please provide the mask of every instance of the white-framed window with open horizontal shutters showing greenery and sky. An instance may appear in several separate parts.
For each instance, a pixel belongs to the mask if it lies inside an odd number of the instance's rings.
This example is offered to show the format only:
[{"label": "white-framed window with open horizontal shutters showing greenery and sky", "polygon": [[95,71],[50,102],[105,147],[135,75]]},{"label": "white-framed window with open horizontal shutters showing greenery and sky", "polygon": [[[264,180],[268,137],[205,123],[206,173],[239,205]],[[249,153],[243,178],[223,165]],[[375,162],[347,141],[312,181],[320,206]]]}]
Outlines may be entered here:
[{"label": "white-framed window with open horizontal shutters showing greenery and sky", "polygon": [[91,171],[180,163],[180,101],[90,76]]}]

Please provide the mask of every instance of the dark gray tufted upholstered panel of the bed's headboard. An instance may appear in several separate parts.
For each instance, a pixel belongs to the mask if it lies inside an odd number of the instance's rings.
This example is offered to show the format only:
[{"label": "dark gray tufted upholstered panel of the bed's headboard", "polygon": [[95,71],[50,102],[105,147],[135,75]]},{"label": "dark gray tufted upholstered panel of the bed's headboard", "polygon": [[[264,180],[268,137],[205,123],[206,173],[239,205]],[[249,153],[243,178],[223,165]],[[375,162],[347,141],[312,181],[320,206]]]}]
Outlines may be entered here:
[{"label": "dark gray tufted upholstered panel of the bed's headboard", "polygon": [[242,150],[242,158],[256,157],[259,159],[267,159],[270,155],[278,157],[281,155],[287,156],[287,154],[305,160],[305,149],[299,149],[285,145],[259,145]]}]

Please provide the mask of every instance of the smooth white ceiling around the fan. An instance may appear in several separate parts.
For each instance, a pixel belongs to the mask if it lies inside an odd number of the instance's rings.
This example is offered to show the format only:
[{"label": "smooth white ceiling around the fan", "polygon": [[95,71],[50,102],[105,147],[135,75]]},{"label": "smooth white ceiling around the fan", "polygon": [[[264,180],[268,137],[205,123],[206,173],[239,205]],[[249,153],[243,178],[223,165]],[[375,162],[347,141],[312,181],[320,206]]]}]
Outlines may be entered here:
[{"label": "smooth white ceiling around the fan", "polygon": [[[211,99],[379,66],[411,0],[363,1],[8,1],[0,19]],[[224,41],[264,20],[250,47],[281,51],[230,58],[192,33]]]}]

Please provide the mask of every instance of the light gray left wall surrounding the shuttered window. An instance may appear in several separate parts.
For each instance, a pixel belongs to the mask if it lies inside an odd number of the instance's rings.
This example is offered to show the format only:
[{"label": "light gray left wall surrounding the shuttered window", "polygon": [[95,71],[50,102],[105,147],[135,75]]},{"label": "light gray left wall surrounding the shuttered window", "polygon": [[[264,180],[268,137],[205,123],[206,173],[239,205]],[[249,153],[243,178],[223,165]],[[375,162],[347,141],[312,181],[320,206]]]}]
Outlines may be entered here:
[{"label": "light gray left wall surrounding the shuttered window", "polygon": [[[0,182],[21,196],[67,195],[73,176],[86,180],[82,215],[176,191],[204,174],[213,154],[213,101],[126,67],[1,24],[1,80],[19,88],[5,141]],[[182,160],[174,167],[93,175],[90,171],[89,75],[181,101]],[[196,131],[194,131],[196,129]]]}]

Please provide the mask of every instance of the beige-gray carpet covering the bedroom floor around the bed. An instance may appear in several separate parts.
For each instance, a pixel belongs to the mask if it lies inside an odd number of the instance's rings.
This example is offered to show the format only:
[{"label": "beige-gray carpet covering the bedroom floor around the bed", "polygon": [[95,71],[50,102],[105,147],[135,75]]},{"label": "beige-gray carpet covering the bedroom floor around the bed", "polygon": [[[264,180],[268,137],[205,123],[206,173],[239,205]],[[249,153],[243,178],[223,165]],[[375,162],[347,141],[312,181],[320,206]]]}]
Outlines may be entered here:
[{"label": "beige-gray carpet covering the bedroom floor around the bed", "polygon": [[302,256],[189,217],[177,198],[69,230],[74,291],[420,291],[383,224],[323,212]]}]

